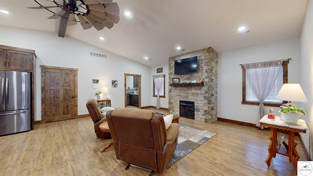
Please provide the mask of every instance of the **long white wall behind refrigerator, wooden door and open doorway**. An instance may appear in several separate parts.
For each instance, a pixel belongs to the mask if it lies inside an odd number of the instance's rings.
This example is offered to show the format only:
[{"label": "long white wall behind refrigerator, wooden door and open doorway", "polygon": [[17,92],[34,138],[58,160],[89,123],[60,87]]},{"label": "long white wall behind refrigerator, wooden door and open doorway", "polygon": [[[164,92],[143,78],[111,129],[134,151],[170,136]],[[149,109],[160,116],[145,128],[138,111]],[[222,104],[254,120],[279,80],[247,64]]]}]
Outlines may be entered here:
[{"label": "long white wall behind refrigerator, wooden door and open doorway", "polygon": [[[151,102],[151,68],[130,59],[76,39],[58,37],[55,33],[0,26],[0,44],[36,51],[35,120],[41,120],[41,68],[61,66],[78,68],[78,115],[88,114],[86,102],[93,93],[108,87],[108,97],[115,108],[124,107],[124,73],[140,74],[141,102]],[[121,48],[122,49],[122,48]],[[91,57],[89,52],[108,55],[107,59]],[[92,89],[92,79],[99,79],[99,89]],[[112,88],[117,80],[117,88]]]}]

